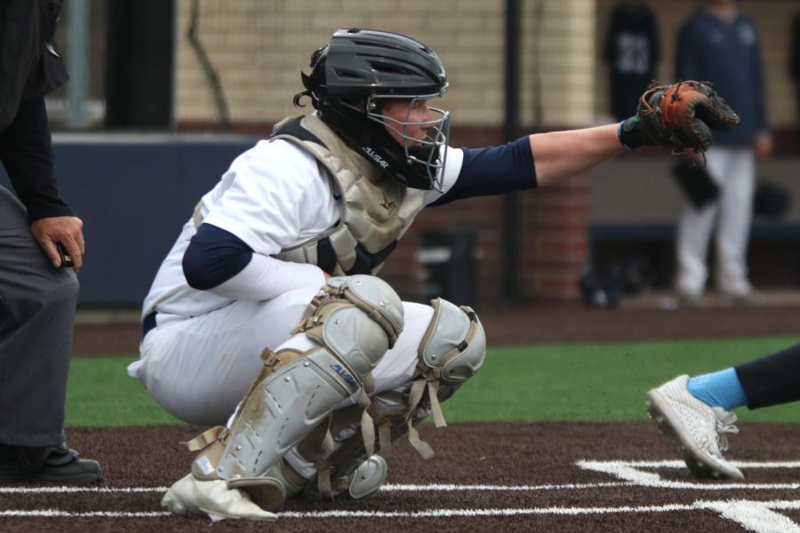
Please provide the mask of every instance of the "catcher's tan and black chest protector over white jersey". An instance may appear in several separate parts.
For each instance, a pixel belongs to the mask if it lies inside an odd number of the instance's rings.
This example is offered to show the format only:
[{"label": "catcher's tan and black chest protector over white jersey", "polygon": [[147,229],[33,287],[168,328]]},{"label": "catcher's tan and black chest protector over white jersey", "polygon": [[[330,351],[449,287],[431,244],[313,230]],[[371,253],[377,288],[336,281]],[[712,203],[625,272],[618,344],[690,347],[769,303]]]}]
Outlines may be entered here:
[{"label": "catcher's tan and black chest protector over white jersey", "polygon": [[284,139],[313,155],[331,176],[342,202],[339,223],[276,257],[310,263],[328,274],[377,274],[397,240],[422,210],[425,192],[404,187],[348,147],[314,115],[276,124],[272,139]]}]

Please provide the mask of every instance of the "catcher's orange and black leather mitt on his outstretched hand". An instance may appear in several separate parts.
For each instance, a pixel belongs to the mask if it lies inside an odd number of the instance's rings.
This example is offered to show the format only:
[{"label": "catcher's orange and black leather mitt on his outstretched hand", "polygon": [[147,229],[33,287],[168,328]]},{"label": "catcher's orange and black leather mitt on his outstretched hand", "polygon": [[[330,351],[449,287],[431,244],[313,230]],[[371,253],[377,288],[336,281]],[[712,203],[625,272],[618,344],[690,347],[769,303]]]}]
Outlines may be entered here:
[{"label": "catcher's orange and black leather mitt on his outstretched hand", "polygon": [[705,152],[711,129],[732,130],[739,116],[725,100],[700,82],[651,84],[639,99],[636,115],[620,124],[620,140],[629,149],[643,145],[685,148]]}]

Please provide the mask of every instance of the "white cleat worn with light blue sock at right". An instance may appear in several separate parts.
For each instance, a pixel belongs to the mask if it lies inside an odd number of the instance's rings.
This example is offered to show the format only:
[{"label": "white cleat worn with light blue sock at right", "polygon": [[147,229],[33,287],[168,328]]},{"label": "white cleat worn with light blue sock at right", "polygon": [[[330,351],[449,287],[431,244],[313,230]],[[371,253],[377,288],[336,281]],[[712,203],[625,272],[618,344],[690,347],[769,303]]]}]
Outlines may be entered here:
[{"label": "white cleat worn with light blue sock at right", "polygon": [[721,407],[710,407],[686,388],[688,376],[679,376],[647,393],[647,410],[659,429],[676,443],[689,471],[700,479],[744,479],[728,463],[726,434],[739,433],[736,415]]}]

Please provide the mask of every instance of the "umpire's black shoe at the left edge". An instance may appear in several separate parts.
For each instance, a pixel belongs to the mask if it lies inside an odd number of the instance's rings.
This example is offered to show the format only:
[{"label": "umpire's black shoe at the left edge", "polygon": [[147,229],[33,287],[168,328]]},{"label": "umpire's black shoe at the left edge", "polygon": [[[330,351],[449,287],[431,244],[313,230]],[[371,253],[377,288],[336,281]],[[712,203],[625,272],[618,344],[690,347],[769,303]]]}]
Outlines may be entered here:
[{"label": "umpire's black shoe at the left edge", "polygon": [[74,449],[0,447],[0,483],[80,485],[102,481],[100,464],[82,459]]}]

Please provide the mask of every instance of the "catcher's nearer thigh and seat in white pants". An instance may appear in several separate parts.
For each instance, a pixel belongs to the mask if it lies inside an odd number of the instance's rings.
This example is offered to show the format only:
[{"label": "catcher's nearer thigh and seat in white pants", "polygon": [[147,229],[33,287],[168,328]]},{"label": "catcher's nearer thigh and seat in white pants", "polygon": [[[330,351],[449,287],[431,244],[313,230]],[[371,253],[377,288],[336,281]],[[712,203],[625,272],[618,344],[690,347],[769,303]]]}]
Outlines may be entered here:
[{"label": "catcher's nearer thigh and seat in white pants", "polygon": [[263,366],[318,289],[292,290],[267,302],[238,301],[194,318],[159,314],[129,373],[164,410],[200,426],[225,425]]}]

